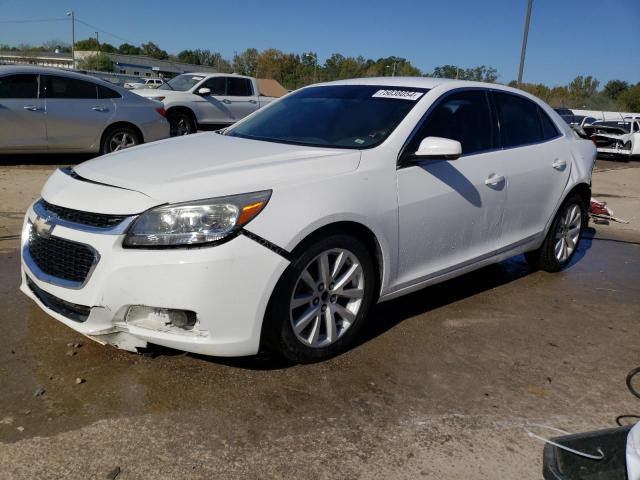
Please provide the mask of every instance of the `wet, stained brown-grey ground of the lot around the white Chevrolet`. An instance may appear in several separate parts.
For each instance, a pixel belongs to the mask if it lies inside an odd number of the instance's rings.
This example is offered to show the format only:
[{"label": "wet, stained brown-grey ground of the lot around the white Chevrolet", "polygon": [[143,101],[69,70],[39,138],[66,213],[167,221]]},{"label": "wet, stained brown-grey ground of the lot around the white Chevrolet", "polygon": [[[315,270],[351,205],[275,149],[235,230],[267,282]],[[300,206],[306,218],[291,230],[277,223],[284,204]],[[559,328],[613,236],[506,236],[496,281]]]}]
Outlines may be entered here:
[{"label": "wet, stained brown-grey ground of the lot around the white Chevrolet", "polygon": [[595,196],[631,223],[590,229],[567,271],[516,257],[382,304],[357,347],[292,366],[129,354],[42,313],[17,290],[11,237],[61,162],[36,161],[0,165],[0,478],[540,478],[523,424],[640,413],[624,385],[640,358],[638,163],[598,163]]}]

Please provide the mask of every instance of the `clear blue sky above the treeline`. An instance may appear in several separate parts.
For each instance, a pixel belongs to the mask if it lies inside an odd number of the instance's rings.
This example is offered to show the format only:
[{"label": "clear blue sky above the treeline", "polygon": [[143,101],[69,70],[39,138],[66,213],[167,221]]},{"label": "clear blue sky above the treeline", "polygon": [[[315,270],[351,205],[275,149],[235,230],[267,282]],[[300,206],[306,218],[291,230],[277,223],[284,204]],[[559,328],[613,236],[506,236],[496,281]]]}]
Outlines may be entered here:
[{"label": "clear blue sky above the treeline", "polygon": [[[153,41],[169,53],[235,51],[396,55],[423,71],[495,67],[517,78],[527,0],[0,0],[0,43],[71,43],[65,13],[100,41]],[[15,23],[16,20],[60,20]],[[95,36],[76,25],[76,39]],[[114,36],[115,35],[115,36]],[[533,0],[524,81],[562,85],[577,75],[640,82],[640,0]]]}]

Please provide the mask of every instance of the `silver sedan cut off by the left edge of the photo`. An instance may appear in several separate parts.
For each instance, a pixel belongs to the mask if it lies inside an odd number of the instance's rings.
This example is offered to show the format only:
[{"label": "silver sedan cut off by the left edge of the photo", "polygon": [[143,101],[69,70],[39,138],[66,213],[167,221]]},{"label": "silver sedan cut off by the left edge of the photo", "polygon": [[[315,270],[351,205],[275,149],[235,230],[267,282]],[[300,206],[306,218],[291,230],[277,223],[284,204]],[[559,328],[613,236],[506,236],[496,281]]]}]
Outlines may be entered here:
[{"label": "silver sedan cut off by the left edge of the photo", "polygon": [[168,136],[158,102],[66,70],[0,67],[0,153],[109,153]]}]

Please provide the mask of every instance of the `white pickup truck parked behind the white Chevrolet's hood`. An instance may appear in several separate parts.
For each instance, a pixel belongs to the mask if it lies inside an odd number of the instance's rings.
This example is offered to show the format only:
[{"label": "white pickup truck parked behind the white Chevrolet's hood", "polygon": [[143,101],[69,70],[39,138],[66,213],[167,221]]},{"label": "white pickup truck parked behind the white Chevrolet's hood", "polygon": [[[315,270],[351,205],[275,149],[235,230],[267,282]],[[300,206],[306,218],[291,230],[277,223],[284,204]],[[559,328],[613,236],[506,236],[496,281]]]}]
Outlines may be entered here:
[{"label": "white pickup truck parked behind the white Chevrolet's hood", "polygon": [[260,95],[255,78],[224,73],[185,73],[135,93],[164,104],[174,136],[229,126],[274,100]]}]

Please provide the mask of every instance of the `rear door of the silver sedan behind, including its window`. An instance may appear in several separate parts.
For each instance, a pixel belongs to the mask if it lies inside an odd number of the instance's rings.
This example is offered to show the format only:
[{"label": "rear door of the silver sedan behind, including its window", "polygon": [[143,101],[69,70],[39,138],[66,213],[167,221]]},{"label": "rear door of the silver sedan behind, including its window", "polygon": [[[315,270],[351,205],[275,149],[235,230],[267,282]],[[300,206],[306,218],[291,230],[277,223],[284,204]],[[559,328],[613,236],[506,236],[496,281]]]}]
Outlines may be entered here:
[{"label": "rear door of the silver sedan behind, including its window", "polygon": [[99,98],[97,85],[87,80],[42,75],[47,100],[50,150],[96,151],[102,132],[114,115],[113,102]]}]

